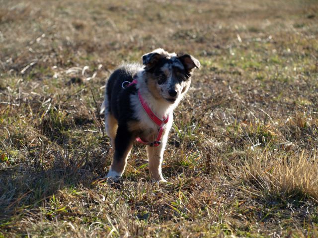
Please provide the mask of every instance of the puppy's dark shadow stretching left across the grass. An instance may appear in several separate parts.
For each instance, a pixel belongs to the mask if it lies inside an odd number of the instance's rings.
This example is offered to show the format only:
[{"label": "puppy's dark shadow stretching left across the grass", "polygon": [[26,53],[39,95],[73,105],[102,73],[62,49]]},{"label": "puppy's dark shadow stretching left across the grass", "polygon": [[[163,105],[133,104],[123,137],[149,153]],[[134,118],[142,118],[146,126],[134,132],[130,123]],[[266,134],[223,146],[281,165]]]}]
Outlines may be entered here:
[{"label": "puppy's dark shadow stretching left across the grass", "polygon": [[92,187],[104,168],[104,159],[68,160],[56,156],[50,168],[44,164],[17,164],[0,169],[0,224],[42,206],[58,190]]}]

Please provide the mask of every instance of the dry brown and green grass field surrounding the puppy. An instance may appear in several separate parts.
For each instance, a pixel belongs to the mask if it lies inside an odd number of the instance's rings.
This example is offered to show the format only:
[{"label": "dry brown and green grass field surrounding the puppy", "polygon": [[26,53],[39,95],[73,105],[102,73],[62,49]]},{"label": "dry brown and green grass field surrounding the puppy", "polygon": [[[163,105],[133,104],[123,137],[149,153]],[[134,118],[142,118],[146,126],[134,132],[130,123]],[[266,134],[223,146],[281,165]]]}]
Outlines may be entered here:
[{"label": "dry brown and green grass field surrounding the puppy", "polygon": [[[317,0],[0,0],[0,238],[318,237]],[[166,184],[109,184],[97,107],[123,61],[200,60]],[[101,119],[103,120],[103,119]]]}]

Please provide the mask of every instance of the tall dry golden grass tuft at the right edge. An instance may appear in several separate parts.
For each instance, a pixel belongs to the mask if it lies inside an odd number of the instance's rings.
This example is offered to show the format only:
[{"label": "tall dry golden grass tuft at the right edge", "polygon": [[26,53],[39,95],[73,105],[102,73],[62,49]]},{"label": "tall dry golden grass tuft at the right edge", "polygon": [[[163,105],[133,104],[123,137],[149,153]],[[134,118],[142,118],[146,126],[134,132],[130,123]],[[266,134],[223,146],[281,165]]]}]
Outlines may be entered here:
[{"label": "tall dry golden grass tuft at the right edge", "polygon": [[308,197],[317,202],[317,162],[315,152],[280,155],[265,150],[258,155],[248,155],[240,170],[233,168],[233,174],[234,178],[238,176],[245,183],[272,196],[299,200]]}]

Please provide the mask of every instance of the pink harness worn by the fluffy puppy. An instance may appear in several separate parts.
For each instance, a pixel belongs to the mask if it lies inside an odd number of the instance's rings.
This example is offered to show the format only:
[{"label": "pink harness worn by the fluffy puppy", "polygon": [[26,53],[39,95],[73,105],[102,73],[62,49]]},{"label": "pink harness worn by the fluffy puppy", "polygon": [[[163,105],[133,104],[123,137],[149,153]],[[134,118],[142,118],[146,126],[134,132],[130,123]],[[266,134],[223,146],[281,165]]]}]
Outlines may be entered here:
[{"label": "pink harness worn by the fluffy puppy", "polygon": [[[126,82],[126,81],[125,81]],[[124,82],[124,83],[125,83]],[[123,83],[123,84],[124,84]],[[123,87],[123,84],[122,84],[122,87]],[[129,82],[128,86],[131,86],[131,85],[134,85],[134,84],[137,84],[137,78],[136,76],[134,77],[134,80],[132,82]],[[123,87],[124,88],[124,87]],[[154,121],[158,126],[159,126],[159,131],[158,131],[158,135],[157,135],[157,138],[154,142],[146,142],[146,141],[143,141],[140,137],[137,137],[136,140],[142,144],[145,144],[145,145],[149,145],[149,146],[159,146],[160,145],[160,139],[161,139],[161,135],[162,135],[162,132],[163,132],[163,125],[166,124],[169,120],[169,115],[166,116],[166,117],[163,117],[163,119],[159,119],[154,113],[153,111],[150,109],[150,107],[148,106],[148,104],[145,102],[144,98],[141,96],[140,94],[140,91],[138,90],[137,91],[138,93],[138,98],[139,98],[139,101],[141,103],[141,105],[143,106],[145,112],[147,113],[148,117]]]}]

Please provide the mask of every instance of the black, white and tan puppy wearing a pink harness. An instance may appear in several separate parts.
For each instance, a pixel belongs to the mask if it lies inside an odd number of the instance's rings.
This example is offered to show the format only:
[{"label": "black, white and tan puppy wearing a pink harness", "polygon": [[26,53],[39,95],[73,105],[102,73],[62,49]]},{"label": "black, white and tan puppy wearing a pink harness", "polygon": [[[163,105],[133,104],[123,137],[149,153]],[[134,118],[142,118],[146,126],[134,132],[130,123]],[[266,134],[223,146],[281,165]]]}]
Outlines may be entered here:
[{"label": "black, white and tan puppy wearing a pink harness", "polygon": [[146,144],[152,180],[166,182],[161,173],[163,152],[172,126],[173,110],[186,94],[199,60],[188,54],[156,49],[139,63],[123,64],[106,83],[101,113],[114,148],[107,179],[124,173],[135,140]]}]

